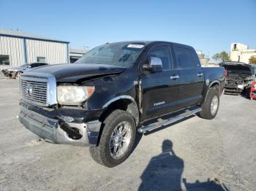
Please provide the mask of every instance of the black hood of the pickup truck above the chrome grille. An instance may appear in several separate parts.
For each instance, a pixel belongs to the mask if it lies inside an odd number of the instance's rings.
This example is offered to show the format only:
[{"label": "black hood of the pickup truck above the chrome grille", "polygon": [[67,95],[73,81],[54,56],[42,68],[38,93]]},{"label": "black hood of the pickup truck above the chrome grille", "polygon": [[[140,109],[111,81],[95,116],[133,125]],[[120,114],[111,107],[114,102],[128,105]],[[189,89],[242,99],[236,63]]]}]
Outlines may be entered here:
[{"label": "black hood of the pickup truck above the chrome grille", "polygon": [[56,77],[56,82],[77,82],[89,77],[119,74],[126,69],[121,66],[89,63],[64,63],[42,66],[29,70],[29,73],[46,73]]}]

